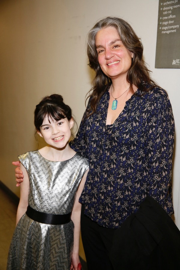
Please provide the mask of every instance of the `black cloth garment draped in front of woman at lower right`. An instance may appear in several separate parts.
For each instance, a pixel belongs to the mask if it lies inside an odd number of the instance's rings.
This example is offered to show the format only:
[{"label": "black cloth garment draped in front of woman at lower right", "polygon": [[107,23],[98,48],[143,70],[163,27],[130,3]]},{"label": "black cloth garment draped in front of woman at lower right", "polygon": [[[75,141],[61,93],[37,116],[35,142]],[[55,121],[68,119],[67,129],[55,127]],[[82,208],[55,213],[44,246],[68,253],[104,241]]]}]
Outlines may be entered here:
[{"label": "black cloth garment draped in front of woman at lower right", "polygon": [[180,231],[148,196],[115,231],[110,259],[115,270],[180,269]]}]

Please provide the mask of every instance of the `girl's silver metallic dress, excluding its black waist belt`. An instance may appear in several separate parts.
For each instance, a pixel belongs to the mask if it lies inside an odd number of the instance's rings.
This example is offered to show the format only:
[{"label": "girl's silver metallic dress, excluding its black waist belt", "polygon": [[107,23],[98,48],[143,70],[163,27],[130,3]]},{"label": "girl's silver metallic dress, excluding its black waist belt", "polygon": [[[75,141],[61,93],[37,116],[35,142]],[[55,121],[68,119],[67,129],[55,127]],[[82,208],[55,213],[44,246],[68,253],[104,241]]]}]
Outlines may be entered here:
[{"label": "girl's silver metallic dress, excluding its black waist belt", "polygon": [[[29,175],[29,205],[49,214],[72,211],[76,190],[88,169],[88,160],[75,154],[67,161],[49,161],[37,151],[19,156]],[[7,270],[69,270],[74,224],[36,222],[26,214],[16,226],[8,255]]]}]

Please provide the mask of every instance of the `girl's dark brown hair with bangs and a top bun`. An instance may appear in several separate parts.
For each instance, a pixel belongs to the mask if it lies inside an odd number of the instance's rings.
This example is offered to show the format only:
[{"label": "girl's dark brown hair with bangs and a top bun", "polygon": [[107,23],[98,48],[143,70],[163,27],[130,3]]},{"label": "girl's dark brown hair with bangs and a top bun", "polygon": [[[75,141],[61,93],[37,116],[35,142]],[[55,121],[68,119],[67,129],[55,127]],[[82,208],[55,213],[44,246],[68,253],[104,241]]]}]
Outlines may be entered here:
[{"label": "girl's dark brown hair with bangs and a top bun", "polygon": [[58,121],[67,117],[68,121],[70,121],[70,119],[73,118],[71,108],[63,102],[62,96],[58,94],[44,97],[41,102],[36,105],[34,113],[34,124],[37,131],[40,131],[40,127],[46,116],[48,116],[49,122],[50,119]]}]

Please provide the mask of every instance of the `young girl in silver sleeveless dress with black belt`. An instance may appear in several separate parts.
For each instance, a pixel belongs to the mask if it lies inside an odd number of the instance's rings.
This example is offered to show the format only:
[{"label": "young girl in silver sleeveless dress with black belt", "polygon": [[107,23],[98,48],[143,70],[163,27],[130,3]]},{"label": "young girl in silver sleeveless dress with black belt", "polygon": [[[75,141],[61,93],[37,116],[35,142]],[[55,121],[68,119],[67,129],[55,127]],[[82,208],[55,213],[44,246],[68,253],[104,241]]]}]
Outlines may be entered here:
[{"label": "young girl in silver sleeveless dress with black belt", "polygon": [[78,270],[88,160],[69,146],[74,120],[60,95],[43,98],[34,122],[47,146],[19,156],[24,181],[7,269]]}]

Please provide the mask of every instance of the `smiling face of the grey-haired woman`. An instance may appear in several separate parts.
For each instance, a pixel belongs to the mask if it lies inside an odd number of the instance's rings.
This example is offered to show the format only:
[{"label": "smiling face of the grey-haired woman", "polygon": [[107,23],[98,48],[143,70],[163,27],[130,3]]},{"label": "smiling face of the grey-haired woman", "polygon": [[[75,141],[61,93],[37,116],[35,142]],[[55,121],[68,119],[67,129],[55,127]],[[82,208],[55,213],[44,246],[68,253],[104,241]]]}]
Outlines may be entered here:
[{"label": "smiling face of the grey-haired woman", "polygon": [[116,28],[110,26],[98,31],[95,44],[104,74],[112,80],[123,76],[126,78],[133,53],[123,45]]}]

